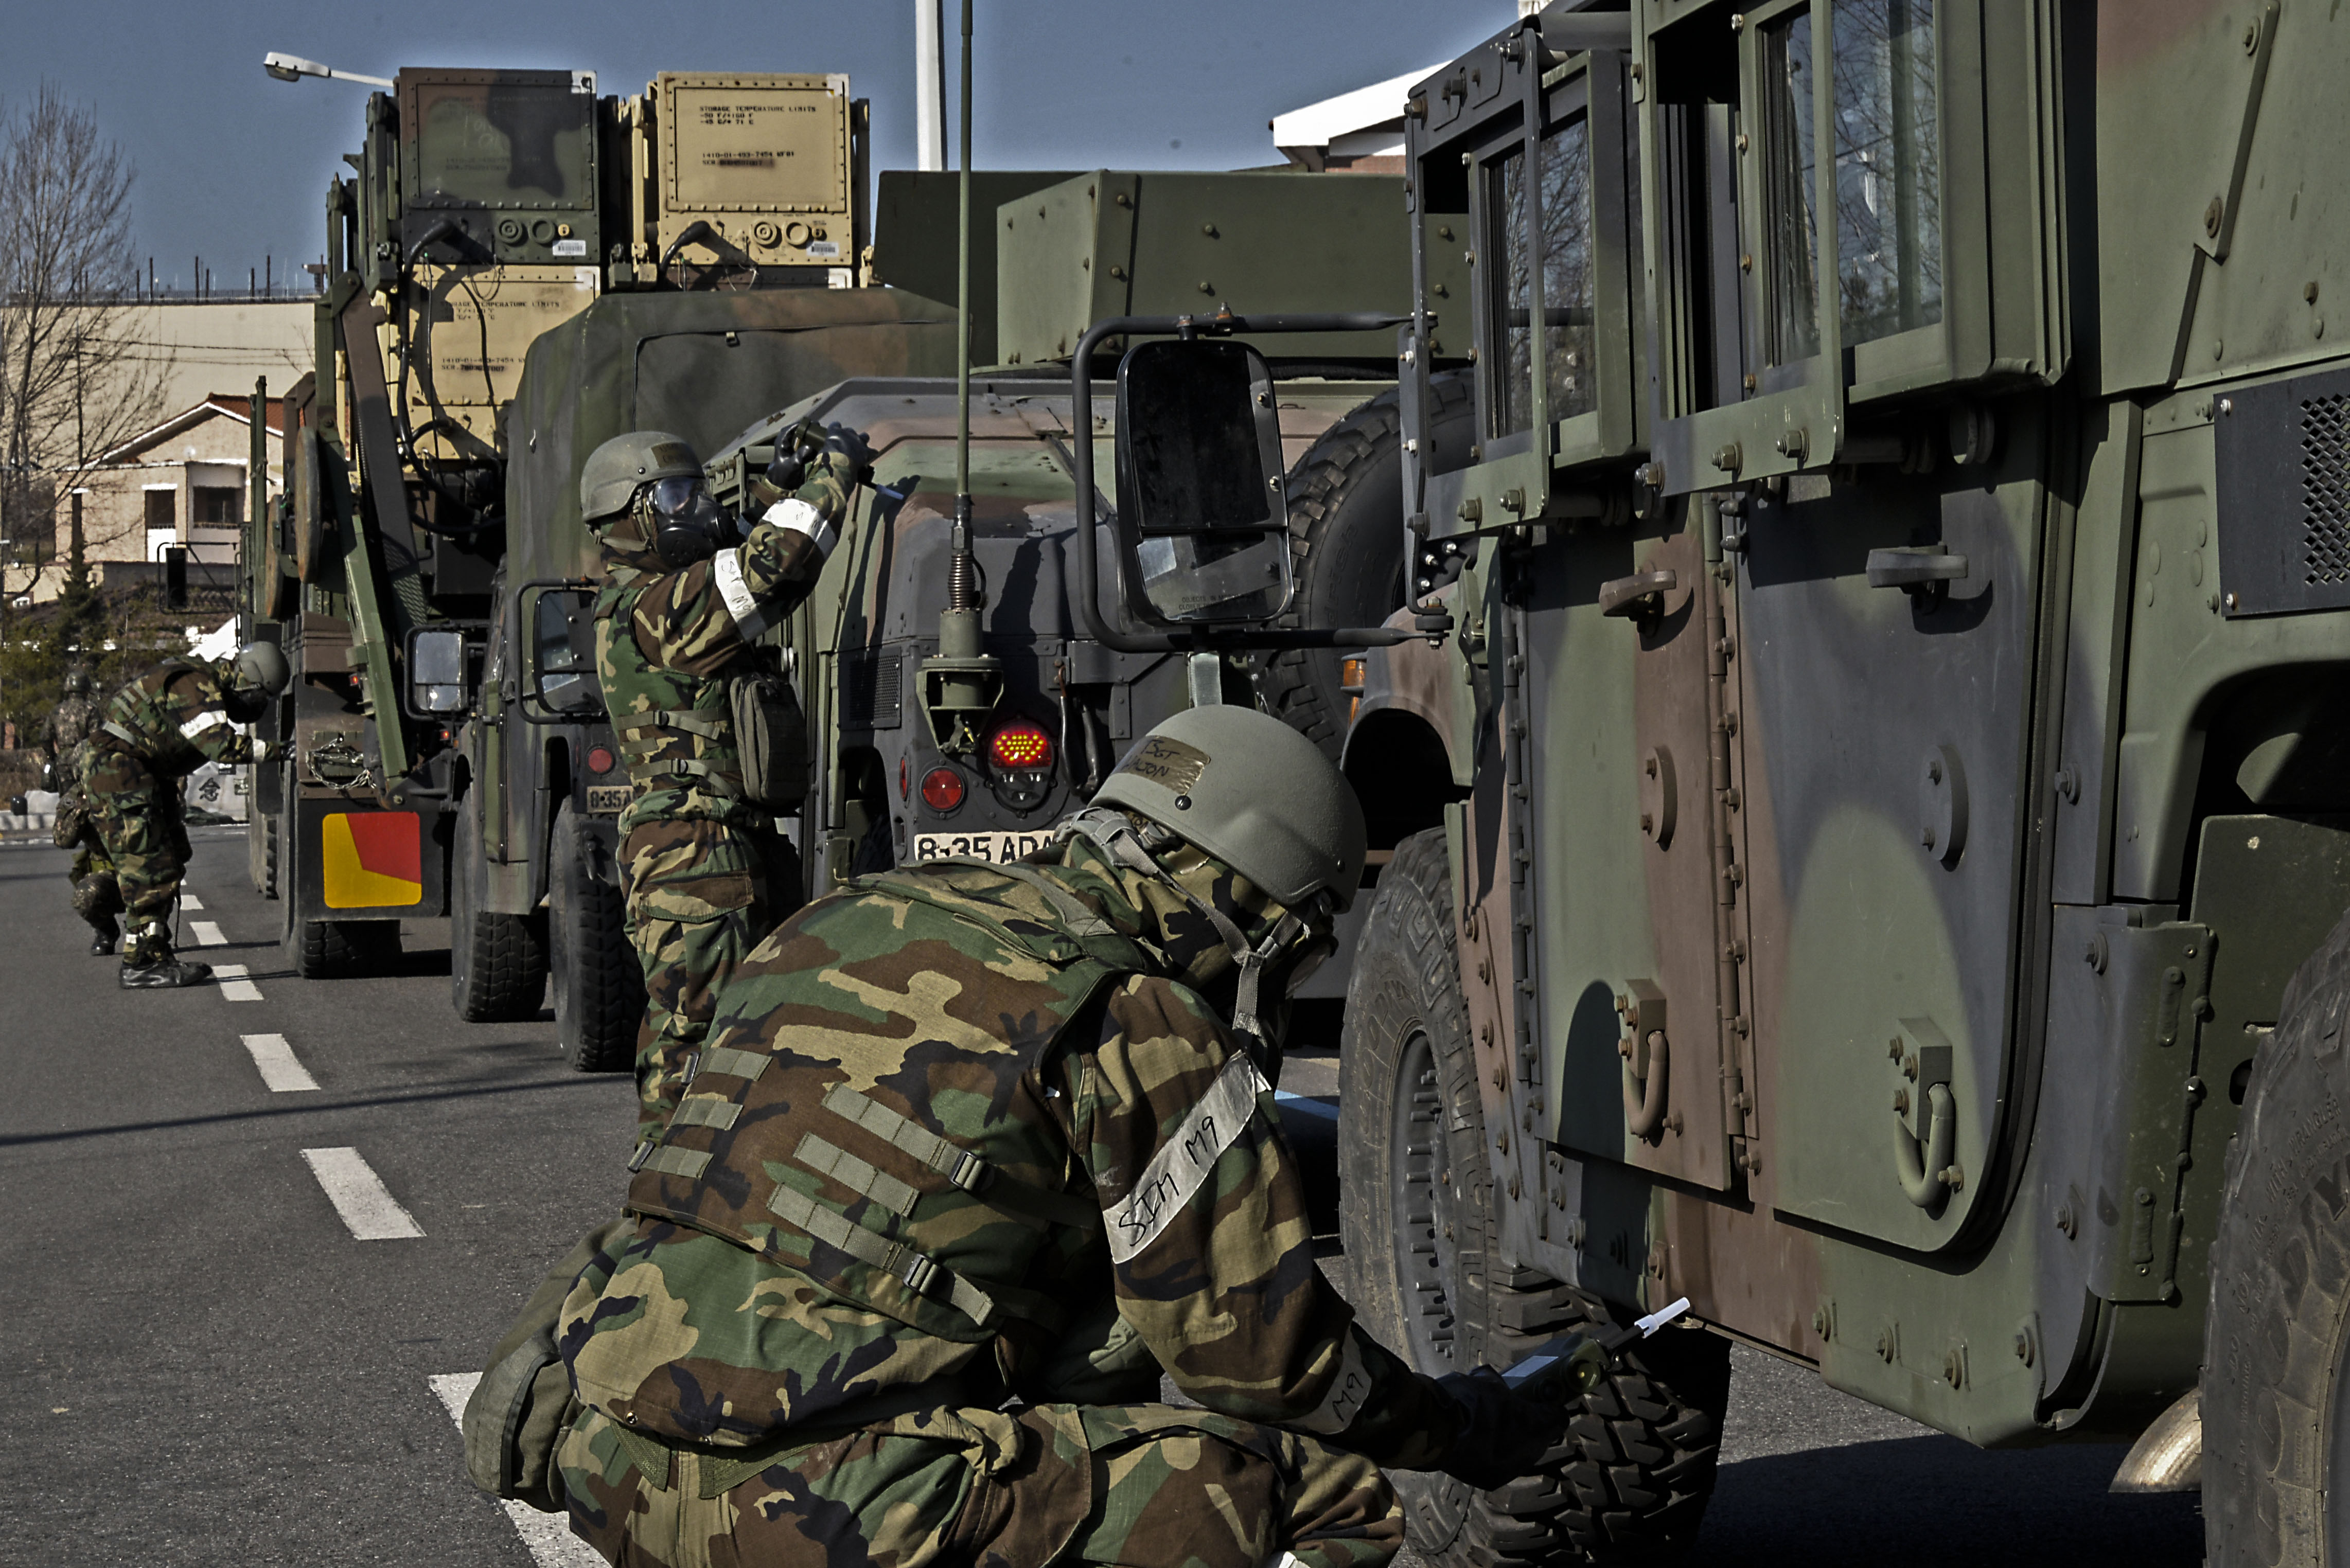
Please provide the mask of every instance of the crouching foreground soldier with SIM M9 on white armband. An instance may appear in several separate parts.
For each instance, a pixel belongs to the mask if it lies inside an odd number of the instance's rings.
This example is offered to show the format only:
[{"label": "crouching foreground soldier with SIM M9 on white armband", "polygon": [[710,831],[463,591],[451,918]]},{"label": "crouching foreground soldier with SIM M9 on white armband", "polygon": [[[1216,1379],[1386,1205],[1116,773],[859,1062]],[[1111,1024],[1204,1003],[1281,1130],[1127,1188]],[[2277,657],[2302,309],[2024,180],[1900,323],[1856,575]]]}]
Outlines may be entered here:
[{"label": "crouching foreground soldier with SIM M9 on white armband", "polygon": [[1321,1568],[1401,1547],[1379,1465],[1532,1469],[1560,1401],[1415,1373],[1314,1262],[1271,1077],[1361,872],[1321,750],[1196,708],[1032,860],[804,907],[498,1347],[475,1481],[613,1563]]}]

